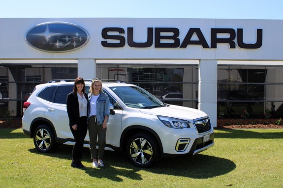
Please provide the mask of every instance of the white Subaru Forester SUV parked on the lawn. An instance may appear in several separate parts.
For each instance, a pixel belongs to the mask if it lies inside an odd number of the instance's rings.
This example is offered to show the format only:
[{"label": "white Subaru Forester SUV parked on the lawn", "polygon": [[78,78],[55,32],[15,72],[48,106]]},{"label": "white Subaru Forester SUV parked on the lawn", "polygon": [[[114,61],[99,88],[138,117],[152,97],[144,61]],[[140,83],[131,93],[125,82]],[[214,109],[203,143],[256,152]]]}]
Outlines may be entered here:
[{"label": "white Subaru Forester SUV parked on the lawn", "polygon": [[[86,91],[91,81],[85,80]],[[74,145],[66,96],[74,82],[55,80],[35,86],[24,103],[23,132],[39,152],[57,144]],[[123,82],[103,82],[109,96],[106,150],[125,151],[136,166],[147,167],[159,157],[195,155],[214,145],[214,130],[203,111],[162,103],[146,90]],[[89,134],[85,138],[89,147]]]}]

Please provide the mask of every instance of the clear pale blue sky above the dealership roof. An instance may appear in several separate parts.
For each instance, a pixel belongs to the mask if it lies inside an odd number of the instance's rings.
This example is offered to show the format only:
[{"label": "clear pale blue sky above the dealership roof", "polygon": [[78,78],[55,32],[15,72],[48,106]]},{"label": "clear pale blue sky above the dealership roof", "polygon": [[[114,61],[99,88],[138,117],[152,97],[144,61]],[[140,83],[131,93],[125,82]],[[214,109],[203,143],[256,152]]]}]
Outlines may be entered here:
[{"label": "clear pale blue sky above the dealership roof", "polygon": [[283,0],[1,0],[0,18],[283,20]]}]

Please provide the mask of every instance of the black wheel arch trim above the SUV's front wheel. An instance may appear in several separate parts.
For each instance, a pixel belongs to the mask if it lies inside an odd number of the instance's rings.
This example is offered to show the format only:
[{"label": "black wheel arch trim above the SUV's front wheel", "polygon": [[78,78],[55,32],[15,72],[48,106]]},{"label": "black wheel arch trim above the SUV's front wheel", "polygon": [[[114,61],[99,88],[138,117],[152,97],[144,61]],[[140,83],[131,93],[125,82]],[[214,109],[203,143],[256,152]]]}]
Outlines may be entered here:
[{"label": "black wheel arch trim above the SUV's front wheel", "polygon": [[[152,130],[151,128],[148,128],[148,127],[145,127],[145,126],[142,126],[142,125],[132,125],[132,126],[127,127],[123,131],[123,133],[121,134],[121,139],[120,139],[120,148],[121,148],[121,150],[124,148],[124,144],[123,143],[124,143],[124,139],[125,139],[126,134],[129,131],[132,131],[134,129],[143,130],[143,131],[150,132],[151,134],[153,134],[154,137],[157,139],[157,143],[158,143],[158,146],[159,146],[160,153],[163,153],[163,146],[162,146],[162,142],[160,140],[159,135],[154,130]],[[135,133],[138,133],[138,132],[135,132]]]}]

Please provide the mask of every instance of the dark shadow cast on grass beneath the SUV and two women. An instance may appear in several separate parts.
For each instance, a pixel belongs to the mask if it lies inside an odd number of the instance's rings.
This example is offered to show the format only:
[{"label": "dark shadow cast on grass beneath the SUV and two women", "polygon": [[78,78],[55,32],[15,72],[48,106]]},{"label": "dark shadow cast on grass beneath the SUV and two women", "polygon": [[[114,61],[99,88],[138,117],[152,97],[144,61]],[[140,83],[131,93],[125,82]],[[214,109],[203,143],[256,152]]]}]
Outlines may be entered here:
[{"label": "dark shadow cast on grass beneath the SUV and two women", "polygon": [[[65,160],[69,159],[69,164],[71,163],[72,146],[59,146],[56,153],[39,153],[36,149],[30,149],[30,152]],[[82,162],[87,167],[81,170],[95,178],[107,178],[120,182],[123,181],[121,177],[142,180],[139,173],[140,170],[154,174],[207,179],[227,174],[236,168],[236,164],[233,161],[201,154],[189,157],[159,159],[150,168],[140,168],[132,165],[126,155],[121,152],[105,151],[104,156],[105,166],[93,168],[89,149],[84,148]]]}]

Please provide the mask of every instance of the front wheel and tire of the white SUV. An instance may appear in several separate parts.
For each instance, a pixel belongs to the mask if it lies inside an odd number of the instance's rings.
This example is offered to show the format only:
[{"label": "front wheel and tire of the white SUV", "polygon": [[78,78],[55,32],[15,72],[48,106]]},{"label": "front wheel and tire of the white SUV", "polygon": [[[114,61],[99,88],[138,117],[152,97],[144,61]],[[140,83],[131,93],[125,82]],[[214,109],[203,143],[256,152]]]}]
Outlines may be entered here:
[{"label": "front wheel and tire of the white SUV", "polygon": [[139,167],[149,167],[158,158],[156,140],[145,133],[134,134],[127,142],[126,152],[130,161]]}]

